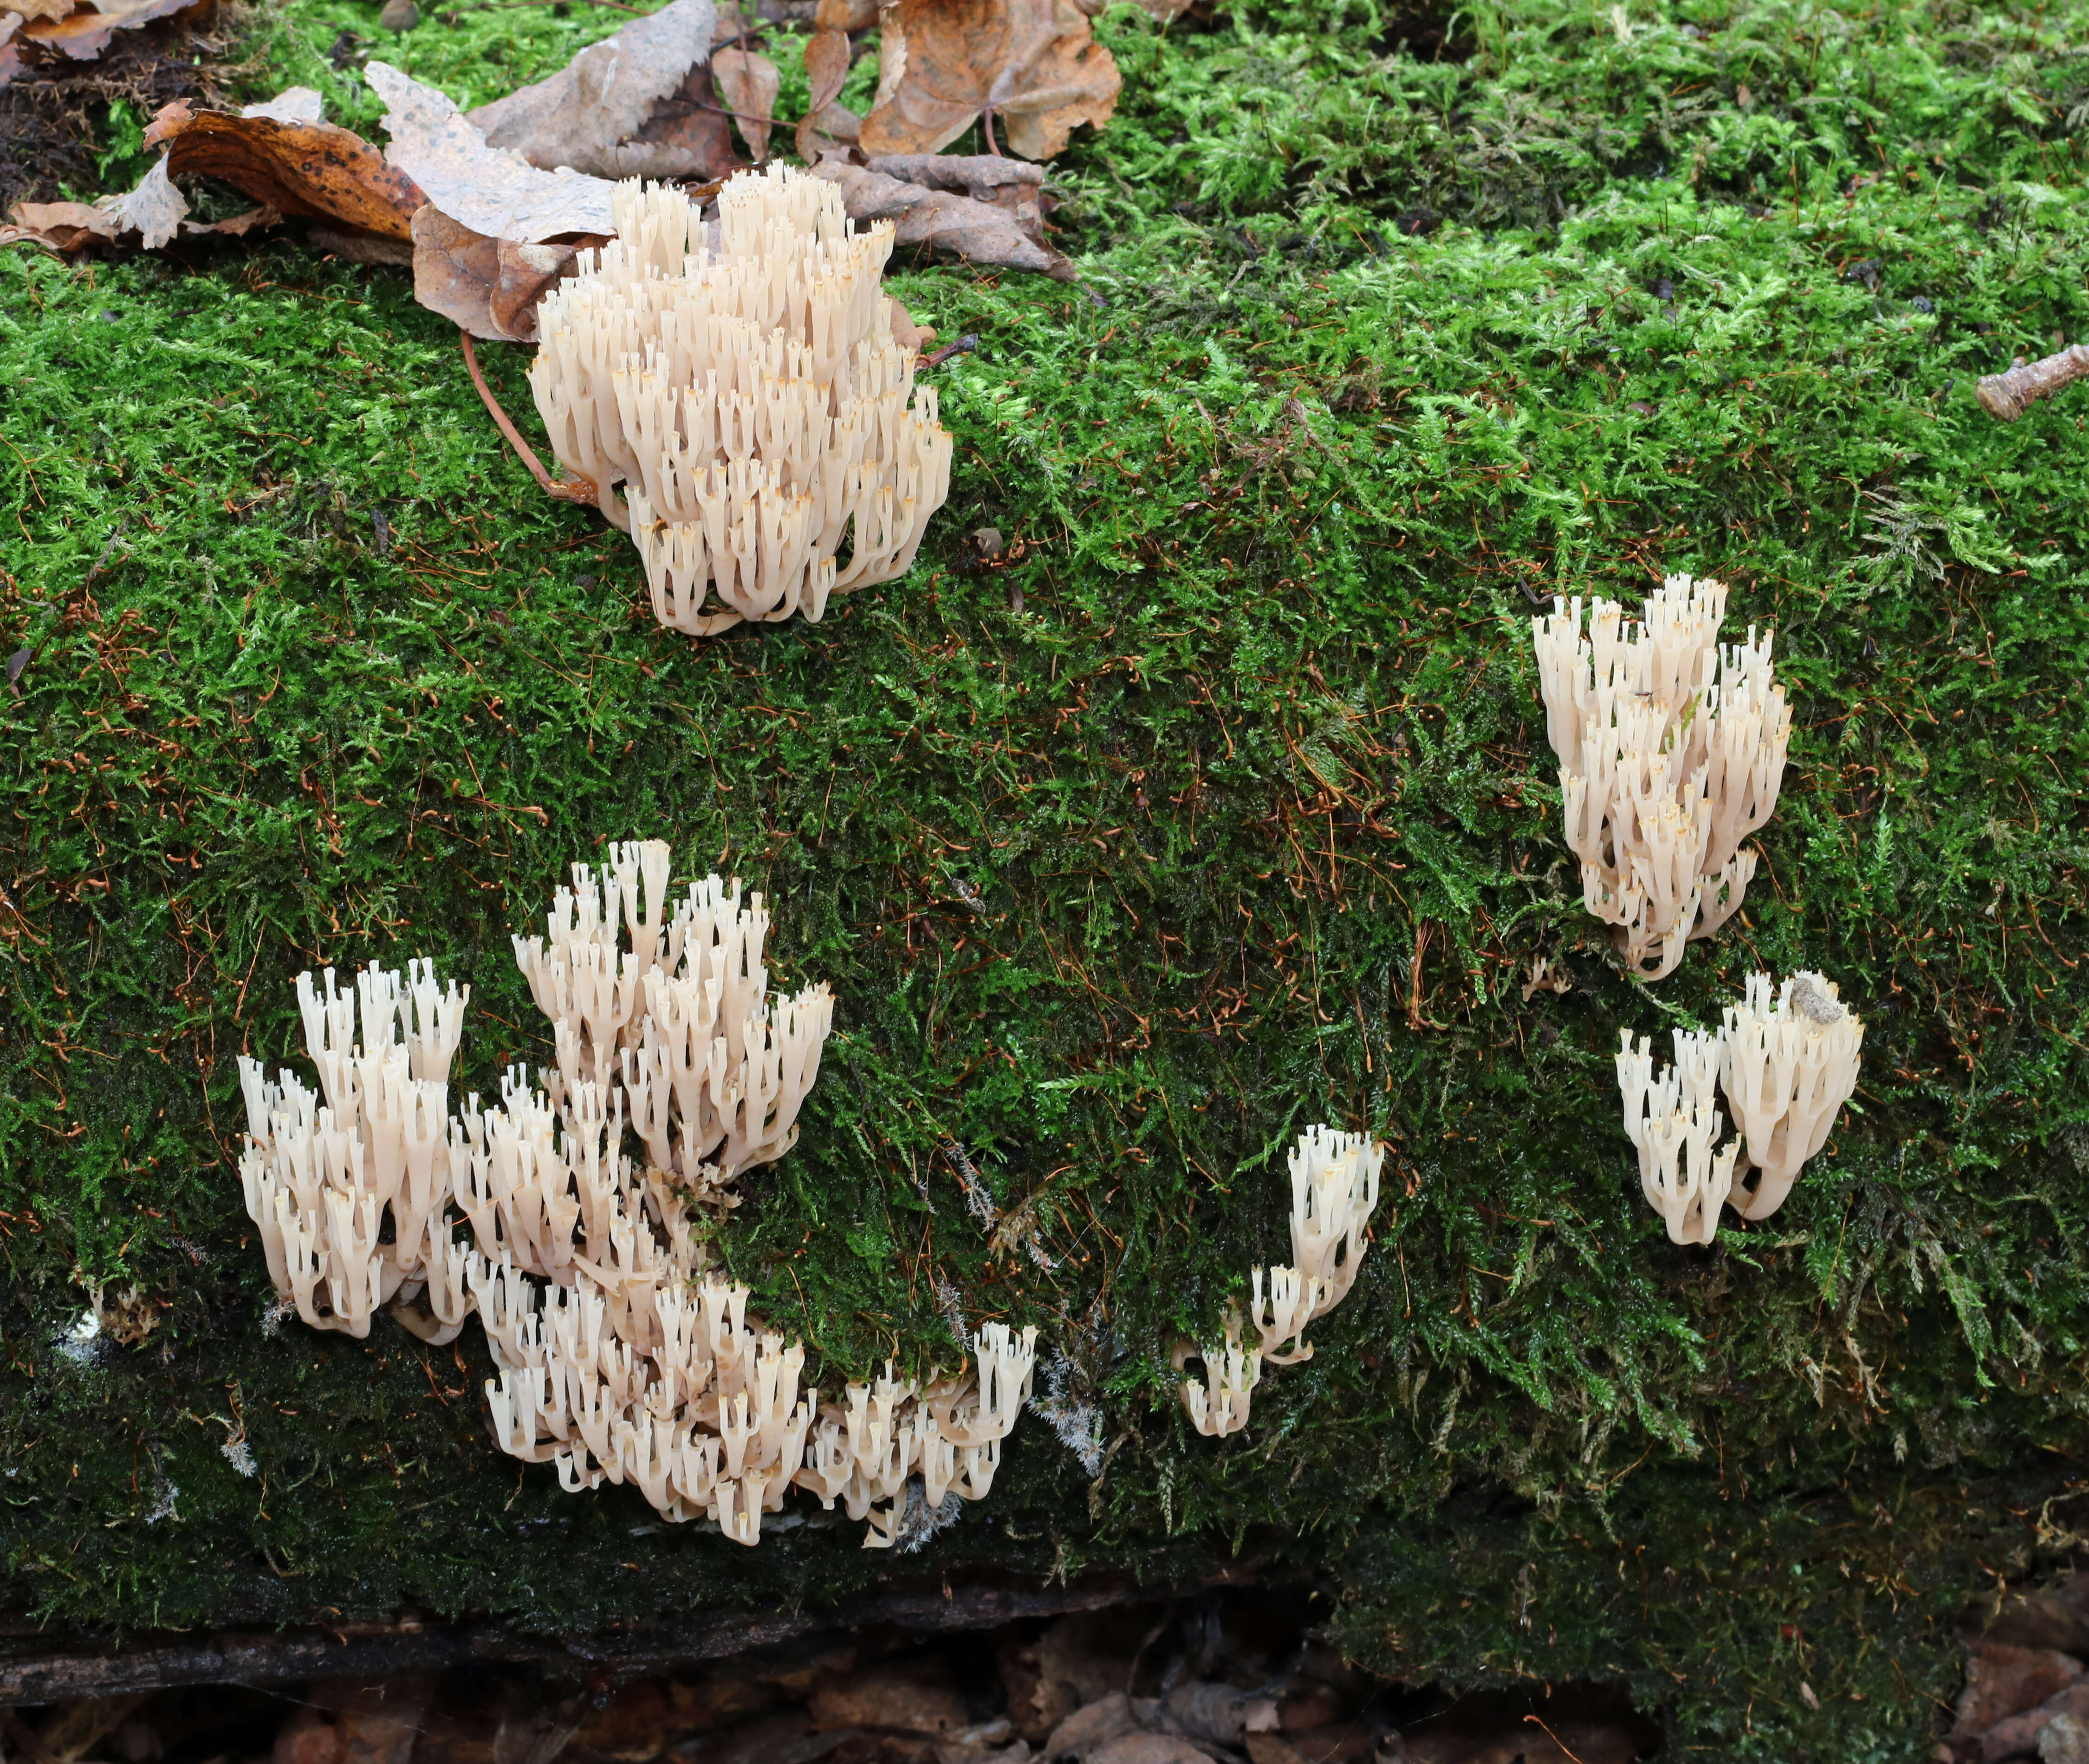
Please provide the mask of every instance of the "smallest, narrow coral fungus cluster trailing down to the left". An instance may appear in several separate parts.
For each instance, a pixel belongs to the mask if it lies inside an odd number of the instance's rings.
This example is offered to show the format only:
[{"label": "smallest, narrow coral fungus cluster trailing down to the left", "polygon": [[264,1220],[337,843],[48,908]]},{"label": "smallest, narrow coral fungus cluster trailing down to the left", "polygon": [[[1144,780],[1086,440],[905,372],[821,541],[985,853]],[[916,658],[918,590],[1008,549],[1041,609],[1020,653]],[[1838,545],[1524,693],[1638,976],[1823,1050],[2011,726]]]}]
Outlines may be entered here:
[{"label": "smallest, narrow coral fungus cluster trailing down to the left", "polygon": [[1193,1359],[1203,1363],[1203,1382],[1184,1382],[1182,1409],[1205,1438],[1224,1438],[1247,1425],[1253,1388],[1264,1365],[1295,1365],[1312,1359],[1306,1325],[1324,1317],[1356,1285],[1368,1248],[1366,1227],[1379,1206],[1379,1170],[1385,1147],[1366,1133],[1337,1133],[1308,1127],[1291,1147],[1291,1267],[1251,1271],[1253,1304],[1247,1321],[1260,1346],[1243,1346],[1241,1313],[1226,1315],[1226,1342],[1176,1348],[1182,1371]]}]

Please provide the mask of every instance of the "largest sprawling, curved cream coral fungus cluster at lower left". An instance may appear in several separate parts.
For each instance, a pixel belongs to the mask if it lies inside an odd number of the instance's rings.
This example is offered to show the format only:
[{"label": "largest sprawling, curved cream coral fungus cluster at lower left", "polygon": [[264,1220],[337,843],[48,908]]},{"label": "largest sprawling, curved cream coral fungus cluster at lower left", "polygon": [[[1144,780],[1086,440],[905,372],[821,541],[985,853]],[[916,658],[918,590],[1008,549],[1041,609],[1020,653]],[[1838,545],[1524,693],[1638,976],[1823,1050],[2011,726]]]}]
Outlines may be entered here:
[{"label": "largest sprawling, curved cream coral fungus cluster at lower left", "polygon": [[800,1486],[886,1547],[911,1478],[938,1509],[988,1492],[1036,1336],[990,1323],[961,1377],[888,1369],[823,1400],[800,1388],[804,1348],[706,1271],[694,1206],[723,1208],[740,1170],[796,1141],[834,1003],[769,993],[760,895],[710,876],[675,899],[668,869],[658,840],[612,846],[574,865],[545,936],[516,938],[558,1070],[537,1089],[510,1068],[489,1108],[449,1112],[470,993],[422,961],[347,991],[301,976],[320,1089],[240,1060],[247,1210],[318,1329],[368,1336],[389,1304],[447,1342],[476,1315],[501,1448],[556,1463],[568,1490],[631,1482],[752,1545]]}]

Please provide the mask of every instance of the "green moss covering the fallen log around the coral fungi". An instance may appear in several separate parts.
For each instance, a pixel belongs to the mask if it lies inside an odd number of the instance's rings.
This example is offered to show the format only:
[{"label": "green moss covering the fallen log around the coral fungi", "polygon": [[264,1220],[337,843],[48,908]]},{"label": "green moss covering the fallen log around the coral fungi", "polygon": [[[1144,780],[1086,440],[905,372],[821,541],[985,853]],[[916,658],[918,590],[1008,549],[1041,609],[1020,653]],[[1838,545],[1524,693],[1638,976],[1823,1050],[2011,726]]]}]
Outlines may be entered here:
[{"label": "green moss covering the fallen log around the coral fungi", "polygon": [[[320,59],[368,10],[292,4],[259,84],[372,123]],[[1949,1622],[2064,1540],[2083,1446],[2085,405],[1999,426],[1970,387],[2085,324],[2083,15],[1462,17],[1427,61],[1354,0],[1107,15],[1124,102],[1057,167],[1084,286],[896,278],[982,336],[936,370],[921,564],[704,646],[535,493],[401,274],[0,255],[0,642],[40,644],[0,700],[10,1601],[585,1626],[890,1572],[518,1478],[472,1340],[261,1327],[232,1055],[292,1053],[290,978],[437,955],[491,1089],[547,1053],[508,932],[664,834],[840,995],[729,1264],[829,1369],[948,1354],[948,1283],[1105,1392],[1099,1486],[1030,1421],[932,1557],[1243,1549],[1337,1576],[1389,1670],[1621,1672],[1732,1758],[1926,1754]],[[391,54],[485,98],[614,23]],[[1525,621],[1673,568],[1776,625],[1797,736],[1746,922],[1648,993],[1556,838]],[[1575,989],[1525,1005],[1542,951]],[[1677,1250],[1611,1049],[1757,964],[1865,1014],[1861,1112],[1776,1221]],[[1168,1350],[1281,1252],[1316,1118],[1395,1143],[1377,1250],[1214,1446]],[[967,1216],[953,1139],[1042,1258]],[[173,1308],[75,1365],[81,1281]]]}]

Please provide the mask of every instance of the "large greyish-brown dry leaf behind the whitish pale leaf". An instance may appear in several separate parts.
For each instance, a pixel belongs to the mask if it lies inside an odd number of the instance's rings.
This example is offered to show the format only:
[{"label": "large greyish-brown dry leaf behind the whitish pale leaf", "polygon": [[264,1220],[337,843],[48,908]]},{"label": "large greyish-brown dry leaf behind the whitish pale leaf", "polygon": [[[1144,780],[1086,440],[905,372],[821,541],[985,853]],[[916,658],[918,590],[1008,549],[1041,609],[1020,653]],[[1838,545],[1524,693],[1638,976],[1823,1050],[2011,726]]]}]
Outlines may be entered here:
[{"label": "large greyish-brown dry leaf behind the whitish pale leaf", "polygon": [[721,178],[737,159],[710,73],[714,29],[712,0],[671,0],[583,48],[549,79],[480,105],[468,121],[489,146],[543,171]]}]

